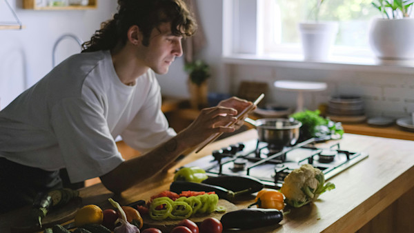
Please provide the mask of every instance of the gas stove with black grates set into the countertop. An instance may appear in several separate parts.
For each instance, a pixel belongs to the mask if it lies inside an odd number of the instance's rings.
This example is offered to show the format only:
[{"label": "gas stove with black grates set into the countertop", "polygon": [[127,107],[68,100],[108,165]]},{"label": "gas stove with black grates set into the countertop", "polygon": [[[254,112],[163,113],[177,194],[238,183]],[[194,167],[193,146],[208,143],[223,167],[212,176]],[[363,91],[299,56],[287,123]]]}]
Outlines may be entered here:
[{"label": "gas stove with black grates set into the countertop", "polygon": [[322,170],[328,180],[368,157],[364,152],[341,150],[339,142],[318,147],[316,141],[308,139],[282,150],[259,140],[235,143],[188,163],[186,167],[198,166],[206,170],[208,176],[252,176],[267,188],[279,189],[284,178],[305,163]]}]

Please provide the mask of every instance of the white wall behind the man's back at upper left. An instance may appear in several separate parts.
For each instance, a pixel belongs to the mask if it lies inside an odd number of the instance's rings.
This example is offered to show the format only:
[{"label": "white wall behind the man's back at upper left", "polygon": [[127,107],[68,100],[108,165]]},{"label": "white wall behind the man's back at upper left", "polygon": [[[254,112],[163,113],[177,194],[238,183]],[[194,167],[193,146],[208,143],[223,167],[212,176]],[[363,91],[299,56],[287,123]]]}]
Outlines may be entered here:
[{"label": "white wall behind the man's back at upper left", "polygon": [[[13,18],[3,0],[0,21]],[[116,11],[115,0],[98,0],[95,10],[26,10],[21,0],[8,0],[25,28],[0,30],[0,108],[39,81],[52,68],[52,47],[65,33],[87,41],[100,23]],[[64,39],[56,50],[57,63],[80,52],[75,40]]]}]

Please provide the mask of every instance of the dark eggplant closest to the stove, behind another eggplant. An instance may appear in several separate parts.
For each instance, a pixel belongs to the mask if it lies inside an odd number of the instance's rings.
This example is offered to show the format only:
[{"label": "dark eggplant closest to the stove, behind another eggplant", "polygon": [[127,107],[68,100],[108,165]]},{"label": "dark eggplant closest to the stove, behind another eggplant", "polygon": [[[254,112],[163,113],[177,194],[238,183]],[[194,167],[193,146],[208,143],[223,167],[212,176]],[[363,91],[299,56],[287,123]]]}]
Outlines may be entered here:
[{"label": "dark eggplant closest to the stove, behind another eggplant", "polygon": [[252,194],[253,192],[259,192],[264,188],[264,183],[260,182],[250,176],[217,176],[209,177],[208,179],[201,181],[208,185],[216,185],[233,192],[240,192],[246,190],[244,194]]}]

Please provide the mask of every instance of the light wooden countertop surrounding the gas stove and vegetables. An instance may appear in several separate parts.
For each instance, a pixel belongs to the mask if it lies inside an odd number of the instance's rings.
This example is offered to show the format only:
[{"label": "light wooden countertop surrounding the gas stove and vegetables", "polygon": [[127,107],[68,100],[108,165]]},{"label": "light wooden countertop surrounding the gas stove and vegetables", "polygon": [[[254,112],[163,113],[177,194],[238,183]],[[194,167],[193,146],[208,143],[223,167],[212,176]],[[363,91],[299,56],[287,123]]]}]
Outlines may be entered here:
[{"label": "light wooden countertop surrounding the gas stove and vegetables", "polygon": [[[175,168],[230,143],[256,137],[255,130],[248,130],[212,143],[199,154],[191,154],[179,161],[168,172],[161,172],[120,196],[113,196],[100,183],[83,188],[83,204],[97,204],[107,208],[110,207],[107,201],[110,196],[121,204],[139,199],[148,200],[153,194],[168,190]],[[322,194],[319,201],[292,210],[280,225],[250,232],[355,232],[414,187],[414,141],[344,134],[341,148],[367,152],[369,156],[330,179],[336,188]],[[253,199],[253,195],[247,196],[235,201],[235,204],[244,208]],[[17,210],[0,216],[0,232],[10,232],[10,225],[19,223],[23,211],[24,209]],[[413,216],[414,210],[408,211],[408,216]]]}]

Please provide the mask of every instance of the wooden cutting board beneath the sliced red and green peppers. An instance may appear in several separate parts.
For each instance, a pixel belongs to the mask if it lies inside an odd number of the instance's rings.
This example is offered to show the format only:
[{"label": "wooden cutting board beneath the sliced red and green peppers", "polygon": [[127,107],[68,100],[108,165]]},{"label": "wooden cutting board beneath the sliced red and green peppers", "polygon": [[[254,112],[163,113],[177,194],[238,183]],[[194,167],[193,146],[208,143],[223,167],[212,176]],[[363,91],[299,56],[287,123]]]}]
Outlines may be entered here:
[{"label": "wooden cutting board beneath the sliced red and green peppers", "polygon": [[[226,212],[230,212],[230,211],[234,211],[238,209],[236,205],[224,199],[219,199],[219,203],[217,205],[226,207]],[[195,223],[201,223],[202,221],[204,221],[204,219],[207,219],[207,218],[215,218],[215,219],[220,220],[221,216],[226,214],[226,212],[213,212],[210,214],[196,214],[195,216],[191,216],[189,219]],[[174,228],[181,221],[181,220],[170,220],[170,219],[165,219],[162,221],[154,220],[154,219],[151,219],[148,214],[146,214],[145,216],[142,216],[142,219],[144,220],[144,227],[155,227],[161,230],[162,232],[170,232],[170,230],[172,230],[172,228]]]}]

